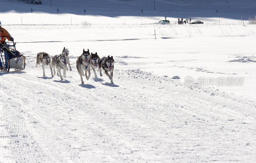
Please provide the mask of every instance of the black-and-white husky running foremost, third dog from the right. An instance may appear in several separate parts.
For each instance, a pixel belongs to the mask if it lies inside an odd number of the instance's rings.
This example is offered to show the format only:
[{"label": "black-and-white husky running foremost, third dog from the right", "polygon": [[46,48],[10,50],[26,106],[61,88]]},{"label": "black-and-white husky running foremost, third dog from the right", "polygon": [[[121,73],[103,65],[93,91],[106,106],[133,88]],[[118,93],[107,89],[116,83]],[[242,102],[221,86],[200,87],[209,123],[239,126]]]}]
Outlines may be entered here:
[{"label": "black-and-white husky running foremost, third dog from the right", "polygon": [[[77,68],[78,74],[81,77],[82,84],[84,83],[83,77],[82,77],[82,76],[84,76],[84,70],[85,70],[85,77],[87,80],[89,80],[89,78],[91,76],[90,58],[91,58],[91,54],[89,52],[89,49],[87,49],[87,51],[83,51],[82,55],[79,56],[76,61],[76,68]],[[88,71],[88,76],[87,76],[87,71]]]}]

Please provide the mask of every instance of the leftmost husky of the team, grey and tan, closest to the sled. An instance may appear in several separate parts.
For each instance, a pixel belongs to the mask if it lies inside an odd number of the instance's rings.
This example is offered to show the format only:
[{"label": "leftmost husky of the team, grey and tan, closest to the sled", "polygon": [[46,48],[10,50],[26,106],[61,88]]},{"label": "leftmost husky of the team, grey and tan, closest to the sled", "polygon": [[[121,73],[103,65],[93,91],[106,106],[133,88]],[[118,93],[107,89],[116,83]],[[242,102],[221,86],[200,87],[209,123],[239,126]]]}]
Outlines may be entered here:
[{"label": "leftmost husky of the team, grey and tan, closest to the sled", "polygon": [[45,76],[44,66],[46,66],[46,65],[48,66],[48,64],[50,66],[52,77],[54,76],[53,73],[52,73],[51,58],[50,58],[49,54],[47,54],[45,52],[37,53],[37,55],[36,55],[36,67],[40,64],[42,64],[42,67],[43,67],[43,76]]}]

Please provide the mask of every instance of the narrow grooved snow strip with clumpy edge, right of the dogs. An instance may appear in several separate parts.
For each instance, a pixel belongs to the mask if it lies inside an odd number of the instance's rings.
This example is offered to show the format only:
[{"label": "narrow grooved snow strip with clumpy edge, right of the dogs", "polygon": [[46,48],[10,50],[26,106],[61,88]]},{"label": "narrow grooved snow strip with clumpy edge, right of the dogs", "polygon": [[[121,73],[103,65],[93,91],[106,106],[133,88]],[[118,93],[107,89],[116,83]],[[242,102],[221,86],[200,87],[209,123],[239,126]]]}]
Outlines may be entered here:
[{"label": "narrow grooved snow strip with clumpy edge, right of the dogs", "polygon": [[172,80],[170,78],[164,79],[166,77],[155,76],[151,73],[143,72],[139,69],[126,70],[124,71],[124,73],[121,73],[121,74],[128,74],[128,77],[132,77],[132,80],[136,82],[140,82],[146,85],[151,85],[159,89],[166,89],[167,91],[179,92],[181,94],[184,94],[193,98],[199,98],[201,100],[205,100],[206,102],[211,102],[212,104],[215,104],[215,105],[225,106],[229,109],[232,109],[233,112],[236,111],[237,113],[244,114],[245,116],[251,117],[254,120],[256,120],[256,109],[255,107],[252,107],[250,105],[239,103],[237,101],[226,99],[223,97],[211,96],[210,94],[206,94],[204,92],[198,92],[196,90],[192,90],[187,87],[184,87],[182,83],[176,82],[175,80]]}]

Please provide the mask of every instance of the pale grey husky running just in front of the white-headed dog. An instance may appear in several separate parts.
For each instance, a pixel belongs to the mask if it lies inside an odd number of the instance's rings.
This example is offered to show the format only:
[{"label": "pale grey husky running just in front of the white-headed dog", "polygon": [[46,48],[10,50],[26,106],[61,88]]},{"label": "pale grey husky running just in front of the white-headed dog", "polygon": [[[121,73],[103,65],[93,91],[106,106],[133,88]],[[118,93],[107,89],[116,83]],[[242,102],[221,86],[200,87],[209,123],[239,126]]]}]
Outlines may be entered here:
[{"label": "pale grey husky running just in front of the white-headed dog", "polygon": [[60,70],[63,69],[63,75],[66,76],[68,58],[66,55],[55,55],[52,58],[53,74],[55,75],[55,67],[57,68],[57,75],[60,74],[60,80],[63,80]]}]

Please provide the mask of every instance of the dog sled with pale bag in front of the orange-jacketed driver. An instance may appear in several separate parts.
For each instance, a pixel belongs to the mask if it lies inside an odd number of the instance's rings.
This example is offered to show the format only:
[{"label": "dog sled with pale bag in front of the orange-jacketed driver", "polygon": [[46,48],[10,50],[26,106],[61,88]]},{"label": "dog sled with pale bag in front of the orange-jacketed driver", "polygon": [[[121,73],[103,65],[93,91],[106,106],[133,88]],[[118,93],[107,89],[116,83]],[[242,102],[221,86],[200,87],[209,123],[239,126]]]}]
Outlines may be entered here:
[{"label": "dog sled with pale bag in front of the orange-jacketed driver", "polygon": [[[9,72],[10,68],[14,70],[24,70],[26,65],[26,57],[23,56],[18,50],[16,50],[16,43],[0,44],[1,60],[3,62],[3,70]],[[8,52],[7,52],[8,51]]]}]

